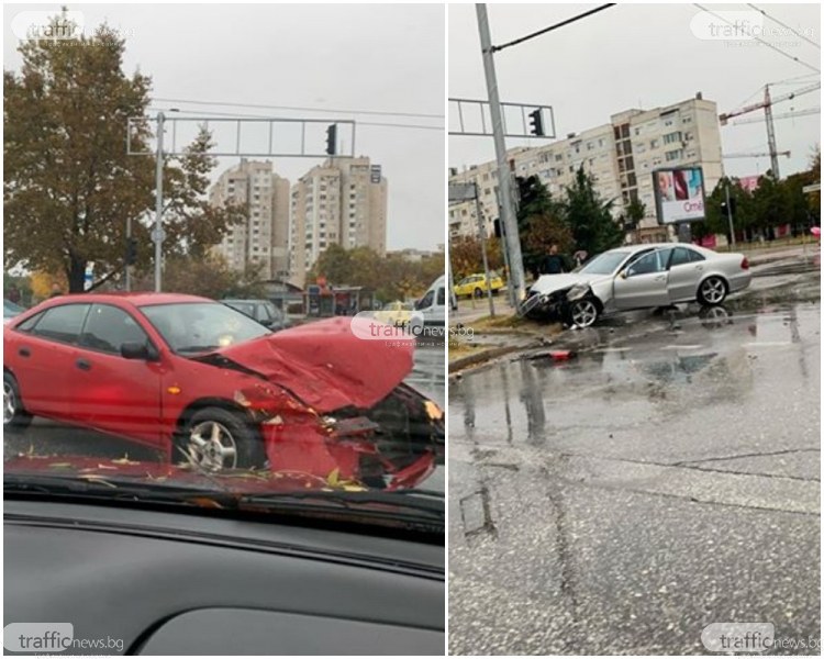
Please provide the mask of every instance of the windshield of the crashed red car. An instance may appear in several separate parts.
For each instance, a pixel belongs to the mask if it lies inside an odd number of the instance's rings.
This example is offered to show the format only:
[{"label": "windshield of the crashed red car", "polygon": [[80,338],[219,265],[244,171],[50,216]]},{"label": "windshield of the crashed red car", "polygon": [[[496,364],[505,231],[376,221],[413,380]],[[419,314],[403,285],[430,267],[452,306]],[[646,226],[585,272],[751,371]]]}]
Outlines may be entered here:
[{"label": "windshield of the crashed red car", "polygon": [[153,304],[141,311],[179,355],[197,355],[258,338],[271,331],[216,302]]}]

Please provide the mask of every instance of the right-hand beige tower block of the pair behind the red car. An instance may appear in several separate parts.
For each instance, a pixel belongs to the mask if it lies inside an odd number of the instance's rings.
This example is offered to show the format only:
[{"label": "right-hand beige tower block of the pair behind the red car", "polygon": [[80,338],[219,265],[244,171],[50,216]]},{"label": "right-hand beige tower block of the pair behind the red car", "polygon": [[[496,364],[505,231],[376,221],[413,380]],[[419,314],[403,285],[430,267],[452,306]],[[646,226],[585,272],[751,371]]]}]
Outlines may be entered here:
[{"label": "right-hand beige tower block of the pair behind the red car", "polygon": [[368,157],[334,157],[313,167],[291,189],[290,281],[305,273],[333,244],[387,250],[387,179]]}]

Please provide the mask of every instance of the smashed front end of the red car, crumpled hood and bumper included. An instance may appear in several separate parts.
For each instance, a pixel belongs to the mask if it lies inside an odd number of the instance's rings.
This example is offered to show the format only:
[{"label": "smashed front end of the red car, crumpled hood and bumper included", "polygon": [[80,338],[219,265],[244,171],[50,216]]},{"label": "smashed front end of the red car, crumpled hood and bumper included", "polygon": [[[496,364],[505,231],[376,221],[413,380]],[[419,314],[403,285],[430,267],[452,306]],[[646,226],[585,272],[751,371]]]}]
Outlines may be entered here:
[{"label": "smashed front end of the red car, crumpled hood and bumper included", "polygon": [[443,412],[402,383],[414,339],[364,340],[349,320],[220,351],[260,382],[235,392],[260,428],[269,468],[371,487],[412,487],[443,457]]}]

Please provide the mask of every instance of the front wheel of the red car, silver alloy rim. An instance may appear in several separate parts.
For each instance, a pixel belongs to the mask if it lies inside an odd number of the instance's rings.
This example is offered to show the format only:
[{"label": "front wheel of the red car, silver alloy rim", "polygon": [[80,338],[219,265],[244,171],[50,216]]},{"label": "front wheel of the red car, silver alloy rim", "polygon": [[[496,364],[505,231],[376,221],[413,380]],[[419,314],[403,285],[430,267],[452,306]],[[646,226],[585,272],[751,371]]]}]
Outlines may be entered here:
[{"label": "front wheel of the red car, silver alloy rim", "polygon": [[178,437],[176,454],[172,457],[175,462],[190,461],[187,458],[190,456],[209,471],[266,467],[266,450],[257,428],[242,412],[223,407],[203,407],[194,412]]}]

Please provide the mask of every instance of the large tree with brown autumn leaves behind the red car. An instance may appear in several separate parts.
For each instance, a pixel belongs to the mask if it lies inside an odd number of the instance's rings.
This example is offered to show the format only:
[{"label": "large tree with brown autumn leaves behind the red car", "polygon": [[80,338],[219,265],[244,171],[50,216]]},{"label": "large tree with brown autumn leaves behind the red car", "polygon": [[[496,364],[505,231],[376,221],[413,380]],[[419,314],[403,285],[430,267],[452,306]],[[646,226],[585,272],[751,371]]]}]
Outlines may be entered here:
[{"label": "large tree with brown autumn leaves behind the red car", "polygon": [[[70,45],[25,41],[19,52],[20,71],[3,72],[7,267],[62,271],[78,292],[93,261],[98,286],[122,271],[130,219],[137,265],[146,266],[155,161],[129,156],[125,136],[127,120],[146,112],[151,79],[122,72],[125,42],[107,25]],[[133,148],[145,149],[149,137],[148,123],[135,126]],[[201,131],[189,153],[165,168],[167,255],[202,255],[242,217],[236,208],[210,209],[202,199],[214,166],[204,155],[209,139]]]}]

